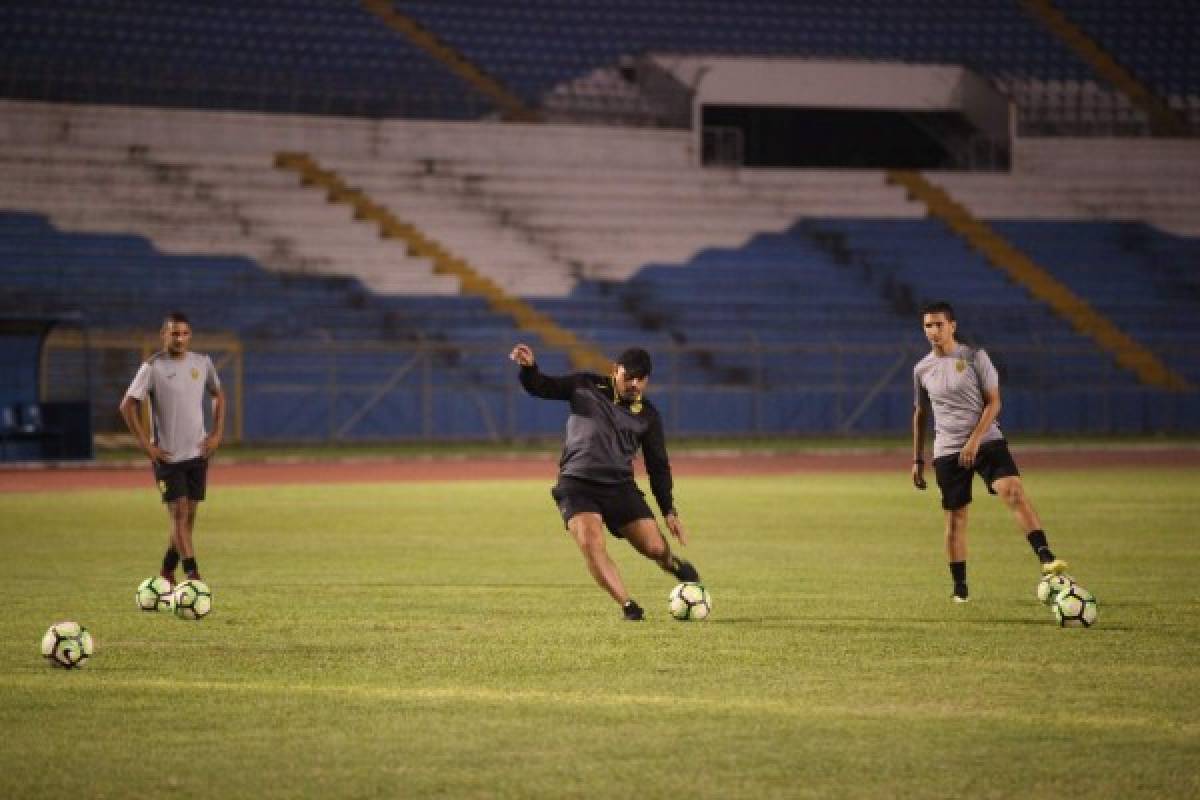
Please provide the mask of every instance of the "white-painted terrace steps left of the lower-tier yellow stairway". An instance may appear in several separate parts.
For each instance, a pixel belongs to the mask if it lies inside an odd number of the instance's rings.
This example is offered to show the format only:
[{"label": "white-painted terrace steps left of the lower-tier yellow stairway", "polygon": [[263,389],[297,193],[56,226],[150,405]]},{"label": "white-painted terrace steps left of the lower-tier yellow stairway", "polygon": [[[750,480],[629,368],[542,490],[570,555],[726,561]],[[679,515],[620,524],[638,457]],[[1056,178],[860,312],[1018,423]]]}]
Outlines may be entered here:
[{"label": "white-painted terrace steps left of the lower-tier yellow stairway", "polygon": [[[0,207],[77,231],[136,231],[168,252],[242,253],[288,272],[349,275],[377,291],[455,294],[457,281],[389,247],[344,210],[294,191],[270,157],[144,149],[6,146]],[[353,265],[353,266],[352,266]]]}]

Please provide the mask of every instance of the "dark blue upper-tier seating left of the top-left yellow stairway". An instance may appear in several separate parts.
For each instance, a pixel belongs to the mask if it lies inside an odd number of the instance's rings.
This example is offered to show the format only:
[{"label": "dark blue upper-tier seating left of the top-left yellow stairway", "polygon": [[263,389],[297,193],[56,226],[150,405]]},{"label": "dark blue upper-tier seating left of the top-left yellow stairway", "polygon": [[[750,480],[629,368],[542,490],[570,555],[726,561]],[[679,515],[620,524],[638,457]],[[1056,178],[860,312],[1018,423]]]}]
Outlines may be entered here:
[{"label": "dark blue upper-tier seating left of the top-left yellow stairway", "polygon": [[0,40],[16,98],[442,119],[491,108],[356,2],[10,2]]}]

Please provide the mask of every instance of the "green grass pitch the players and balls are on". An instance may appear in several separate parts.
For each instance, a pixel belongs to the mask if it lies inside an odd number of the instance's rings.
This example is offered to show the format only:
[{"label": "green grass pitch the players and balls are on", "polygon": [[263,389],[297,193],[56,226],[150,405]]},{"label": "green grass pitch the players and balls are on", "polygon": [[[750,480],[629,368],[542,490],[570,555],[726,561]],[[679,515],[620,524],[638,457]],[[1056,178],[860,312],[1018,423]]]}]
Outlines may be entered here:
[{"label": "green grass pitch the players and balls are on", "polygon": [[[1200,796],[1200,474],[1026,483],[1094,628],[978,483],[950,603],[905,473],[679,480],[715,604],[686,624],[612,542],[620,621],[548,480],[216,487],[199,622],[133,606],[149,487],[0,494],[0,796]],[[38,655],[60,619],[83,670]]]}]

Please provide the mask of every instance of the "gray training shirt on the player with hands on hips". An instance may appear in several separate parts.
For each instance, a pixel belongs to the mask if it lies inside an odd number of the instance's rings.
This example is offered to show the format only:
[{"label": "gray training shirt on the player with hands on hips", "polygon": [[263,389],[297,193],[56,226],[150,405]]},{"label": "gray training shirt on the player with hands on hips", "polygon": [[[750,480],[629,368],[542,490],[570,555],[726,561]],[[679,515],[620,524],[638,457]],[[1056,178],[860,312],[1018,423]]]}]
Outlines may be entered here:
[{"label": "gray training shirt on the player with hands on hips", "polygon": [[136,401],[150,397],[154,443],[170,453],[172,464],[199,458],[204,429],[204,395],[221,389],[212,359],[199,353],[185,353],[172,359],[166,351],[155,353],[133,377],[125,396]]}]

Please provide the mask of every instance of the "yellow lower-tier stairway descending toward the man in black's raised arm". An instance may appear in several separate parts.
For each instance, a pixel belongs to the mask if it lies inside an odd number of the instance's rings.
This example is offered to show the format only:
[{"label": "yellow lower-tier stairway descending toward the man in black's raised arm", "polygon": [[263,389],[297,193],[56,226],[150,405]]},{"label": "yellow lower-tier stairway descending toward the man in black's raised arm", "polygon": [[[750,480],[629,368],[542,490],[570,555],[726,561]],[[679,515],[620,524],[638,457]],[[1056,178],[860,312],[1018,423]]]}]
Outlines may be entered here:
[{"label": "yellow lower-tier stairway descending toward the man in black's raised arm", "polygon": [[492,309],[508,315],[523,331],[536,333],[544,342],[565,349],[577,368],[608,371],[608,359],[593,344],[583,342],[551,317],[539,312],[520,297],[504,291],[496,282],[480,272],[464,259],[451,254],[442,243],[430,239],[414,225],[398,219],[386,206],[377,203],[366,192],[347,186],[335,172],[323,169],[308,154],[281,152],[276,156],[276,166],[300,175],[305,186],[317,186],[328,192],[330,203],[344,203],[354,209],[360,219],[370,219],[379,225],[385,239],[400,239],[409,252],[428,258],[434,264],[434,271],[456,275],[462,290],[487,300]]}]

